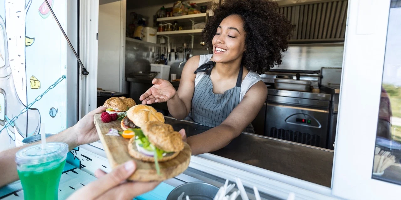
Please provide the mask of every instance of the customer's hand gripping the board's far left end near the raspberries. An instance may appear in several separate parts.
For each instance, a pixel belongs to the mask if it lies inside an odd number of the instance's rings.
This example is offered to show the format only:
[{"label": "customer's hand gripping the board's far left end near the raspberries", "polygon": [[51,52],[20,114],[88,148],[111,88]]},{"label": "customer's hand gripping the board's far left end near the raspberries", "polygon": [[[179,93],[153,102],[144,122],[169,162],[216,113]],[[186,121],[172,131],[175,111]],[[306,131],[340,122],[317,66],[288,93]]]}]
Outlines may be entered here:
[{"label": "customer's hand gripping the board's far left end near the raspberries", "polygon": [[99,140],[95,124],[93,123],[93,115],[104,112],[106,108],[100,106],[86,114],[81,120],[78,121],[73,127],[73,133],[76,136],[77,146],[82,144],[90,144]]}]

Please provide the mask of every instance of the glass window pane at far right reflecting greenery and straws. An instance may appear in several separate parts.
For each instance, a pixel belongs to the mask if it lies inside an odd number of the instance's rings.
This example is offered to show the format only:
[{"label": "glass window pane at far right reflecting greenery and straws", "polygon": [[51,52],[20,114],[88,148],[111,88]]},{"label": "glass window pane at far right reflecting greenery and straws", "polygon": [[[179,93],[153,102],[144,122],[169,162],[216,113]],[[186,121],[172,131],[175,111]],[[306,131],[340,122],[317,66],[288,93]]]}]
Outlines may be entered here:
[{"label": "glass window pane at far right reflecting greenery and straws", "polygon": [[401,2],[391,2],[372,178],[401,184]]}]

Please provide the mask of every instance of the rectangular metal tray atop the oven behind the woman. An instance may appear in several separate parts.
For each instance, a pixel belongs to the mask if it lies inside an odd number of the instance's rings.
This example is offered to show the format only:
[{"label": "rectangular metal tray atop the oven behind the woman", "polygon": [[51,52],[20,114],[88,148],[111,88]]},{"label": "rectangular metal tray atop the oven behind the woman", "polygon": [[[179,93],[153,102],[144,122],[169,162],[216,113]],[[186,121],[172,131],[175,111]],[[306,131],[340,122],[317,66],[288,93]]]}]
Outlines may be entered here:
[{"label": "rectangular metal tray atop the oven behind the woman", "polygon": [[278,90],[294,90],[300,92],[310,92],[311,81],[308,80],[293,80],[284,78],[274,79],[274,88]]}]

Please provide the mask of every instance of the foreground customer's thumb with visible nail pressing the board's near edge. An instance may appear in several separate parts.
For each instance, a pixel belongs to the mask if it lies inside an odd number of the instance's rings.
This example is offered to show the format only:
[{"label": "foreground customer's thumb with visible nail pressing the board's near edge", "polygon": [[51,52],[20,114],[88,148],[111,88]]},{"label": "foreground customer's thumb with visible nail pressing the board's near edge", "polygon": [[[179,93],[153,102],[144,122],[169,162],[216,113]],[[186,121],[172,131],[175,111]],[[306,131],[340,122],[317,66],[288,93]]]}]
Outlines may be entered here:
[{"label": "foreground customer's thumb with visible nail pressing the board's near edge", "polygon": [[73,196],[79,197],[80,199],[95,199],[103,193],[106,193],[112,188],[118,186],[121,182],[130,177],[131,174],[134,173],[135,169],[135,162],[130,160],[121,166],[118,166],[109,174],[106,174],[98,180],[81,188],[75,192]]}]

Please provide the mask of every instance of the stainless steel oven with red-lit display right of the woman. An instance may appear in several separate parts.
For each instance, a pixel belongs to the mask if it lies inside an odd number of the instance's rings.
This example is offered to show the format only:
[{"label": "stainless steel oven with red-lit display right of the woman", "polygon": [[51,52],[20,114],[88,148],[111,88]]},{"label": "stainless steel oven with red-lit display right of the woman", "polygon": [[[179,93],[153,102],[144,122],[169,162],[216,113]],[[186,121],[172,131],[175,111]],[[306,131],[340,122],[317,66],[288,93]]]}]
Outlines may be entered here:
[{"label": "stainless steel oven with red-lit display right of the woman", "polygon": [[330,94],[269,89],[265,136],[327,148]]}]

